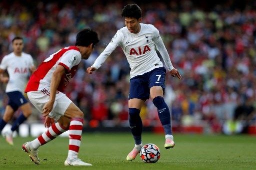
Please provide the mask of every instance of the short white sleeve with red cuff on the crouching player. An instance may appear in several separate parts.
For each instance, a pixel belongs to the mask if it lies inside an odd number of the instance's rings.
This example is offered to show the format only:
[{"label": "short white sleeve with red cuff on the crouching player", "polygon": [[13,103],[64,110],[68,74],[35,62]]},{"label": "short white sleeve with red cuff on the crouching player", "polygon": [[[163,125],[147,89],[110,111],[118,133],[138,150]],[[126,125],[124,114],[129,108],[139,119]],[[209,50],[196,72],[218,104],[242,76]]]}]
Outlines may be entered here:
[{"label": "short white sleeve with red cuff on the crouching player", "polygon": [[59,60],[59,65],[62,65],[65,69],[70,71],[70,69],[79,64],[81,61],[81,54],[77,50],[70,49],[66,51]]}]

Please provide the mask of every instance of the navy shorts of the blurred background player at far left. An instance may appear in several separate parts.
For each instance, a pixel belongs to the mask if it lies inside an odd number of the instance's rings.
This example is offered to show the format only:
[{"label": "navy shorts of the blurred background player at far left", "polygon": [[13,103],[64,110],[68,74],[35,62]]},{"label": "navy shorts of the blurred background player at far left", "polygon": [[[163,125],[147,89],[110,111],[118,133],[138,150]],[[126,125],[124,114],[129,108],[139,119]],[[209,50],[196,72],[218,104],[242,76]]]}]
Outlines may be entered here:
[{"label": "navy shorts of the blurred background player at far left", "polygon": [[9,97],[7,105],[9,105],[14,110],[14,112],[18,109],[19,106],[27,103],[27,100],[20,91],[8,92],[6,94]]}]

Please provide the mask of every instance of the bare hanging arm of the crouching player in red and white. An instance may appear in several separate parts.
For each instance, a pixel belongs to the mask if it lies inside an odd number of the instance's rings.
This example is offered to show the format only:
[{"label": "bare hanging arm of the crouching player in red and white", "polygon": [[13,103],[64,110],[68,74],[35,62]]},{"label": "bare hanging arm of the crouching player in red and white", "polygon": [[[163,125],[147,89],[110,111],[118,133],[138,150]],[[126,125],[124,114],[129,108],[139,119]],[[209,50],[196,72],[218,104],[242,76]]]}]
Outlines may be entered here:
[{"label": "bare hanging arm of the crouching player in red and white", "polygon": [[47,116],[52,110],[57,88],[64,72],[65,72],[65,68],[62,65],[57,65],[56,70],[52,74],[51,81],[50,81],[49,101],[45,103],[45,105],[42,108],[43,117]]}]

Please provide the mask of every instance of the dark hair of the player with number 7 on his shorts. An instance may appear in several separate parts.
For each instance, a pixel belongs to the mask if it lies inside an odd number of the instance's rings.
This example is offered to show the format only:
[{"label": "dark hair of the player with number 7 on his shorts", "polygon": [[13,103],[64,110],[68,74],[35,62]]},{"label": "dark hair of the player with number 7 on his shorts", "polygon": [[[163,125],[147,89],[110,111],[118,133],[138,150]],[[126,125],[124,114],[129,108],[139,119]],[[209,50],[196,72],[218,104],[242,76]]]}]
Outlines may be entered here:
[{"label": "dark hair of the player with number 7 on his shorts", "polygon": [[141,9],[135,3],[127,4],[122,9],[121,15],[122,17],[134,17],[136,19],[139,19],[141,18]]}]

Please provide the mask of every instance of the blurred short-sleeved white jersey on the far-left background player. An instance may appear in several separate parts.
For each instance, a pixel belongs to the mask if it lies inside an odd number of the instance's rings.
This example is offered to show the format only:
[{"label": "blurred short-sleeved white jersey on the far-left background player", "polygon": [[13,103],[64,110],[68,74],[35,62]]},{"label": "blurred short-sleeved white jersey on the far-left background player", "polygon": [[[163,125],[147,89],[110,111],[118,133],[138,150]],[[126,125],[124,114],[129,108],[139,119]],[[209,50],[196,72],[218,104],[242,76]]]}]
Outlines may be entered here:
[{"label": "blurred short-sleeved white jersey on the far-left background player", "polygon": [[9,81],[6,85],[5,92],[20,91],[23,93],[29,76],[29,69],[32,66],[34,64],[30,54],[22,52],[21,56],[16,56],[12,52],[5,55],[0,64],[0,69],[7,69],[9,74]]}]

